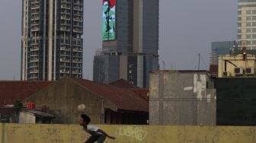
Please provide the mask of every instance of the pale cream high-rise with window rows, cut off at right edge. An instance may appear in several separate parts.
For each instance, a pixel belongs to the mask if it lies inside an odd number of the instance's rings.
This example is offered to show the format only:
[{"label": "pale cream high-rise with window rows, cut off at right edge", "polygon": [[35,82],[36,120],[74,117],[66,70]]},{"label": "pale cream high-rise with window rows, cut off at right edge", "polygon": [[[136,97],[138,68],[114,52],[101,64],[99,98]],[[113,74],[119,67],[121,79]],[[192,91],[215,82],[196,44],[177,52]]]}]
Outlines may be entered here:
[{"label": "pale cream high-rise with window rows, cut off at right edge", "polygon": [[238,0],[238,47],[256,49],[256,0]]}]

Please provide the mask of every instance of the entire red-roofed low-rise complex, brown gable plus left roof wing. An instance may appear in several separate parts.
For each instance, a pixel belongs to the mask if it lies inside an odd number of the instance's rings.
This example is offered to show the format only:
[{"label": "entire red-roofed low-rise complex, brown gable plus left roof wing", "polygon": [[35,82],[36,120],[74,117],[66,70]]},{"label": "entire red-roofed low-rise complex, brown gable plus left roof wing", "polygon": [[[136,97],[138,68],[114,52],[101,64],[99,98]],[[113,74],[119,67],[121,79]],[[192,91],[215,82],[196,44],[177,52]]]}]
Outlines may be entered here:
[{"label": "entire red-roofed low-rise complex, brown gable plus left roof wing", "polygon": [[[149,90],[124,80],[111,84],[77,78],[54,82],[0,81],[0,89],[2,106],[17,100],[24,104],[32,102],[35,110],[52,114],[53,123],[76,124],[81,114],[79,104],[85,104],[86,110],[82,113],[91,116],[93,123],[147,124],[149,120]],[[42,110],[42,107],[46,108]]]}]

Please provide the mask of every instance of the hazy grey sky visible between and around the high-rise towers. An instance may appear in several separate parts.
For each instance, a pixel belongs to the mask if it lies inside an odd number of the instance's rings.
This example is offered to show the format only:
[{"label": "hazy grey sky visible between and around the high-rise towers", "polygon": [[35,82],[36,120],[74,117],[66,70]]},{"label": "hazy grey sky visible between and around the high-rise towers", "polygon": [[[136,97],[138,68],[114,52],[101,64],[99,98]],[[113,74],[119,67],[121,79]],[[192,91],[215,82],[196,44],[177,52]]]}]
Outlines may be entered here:
[{"label": "hazy grey sky visible between and around the high-rise towers", "polygon": [[[211,42],[237,39],[235,0],[159,0],[159,64],[165,70],[209,68]],[[83,78],[92,80],[101,49],[101,0],[84,0]],[[0,1],[0,80],[21,79],[22,0]],[[163,62],[164,61],[164,62]]]}]

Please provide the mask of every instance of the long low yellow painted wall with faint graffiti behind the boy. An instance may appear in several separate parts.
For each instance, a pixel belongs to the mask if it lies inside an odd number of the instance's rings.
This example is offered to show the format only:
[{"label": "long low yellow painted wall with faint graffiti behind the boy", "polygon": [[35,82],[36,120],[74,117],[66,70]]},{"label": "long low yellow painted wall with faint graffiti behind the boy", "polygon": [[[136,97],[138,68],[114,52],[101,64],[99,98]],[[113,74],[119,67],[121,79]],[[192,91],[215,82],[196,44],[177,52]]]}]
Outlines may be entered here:
[{"label": "long low yellow painted wall with faint graffiti behind the boy", "polygon": [[[256,127],[245,126],[100,126],[117,138],[105,142],[254,143]],[[82,143],[89,135],[76,125],[0,124],[2,143]]]}]

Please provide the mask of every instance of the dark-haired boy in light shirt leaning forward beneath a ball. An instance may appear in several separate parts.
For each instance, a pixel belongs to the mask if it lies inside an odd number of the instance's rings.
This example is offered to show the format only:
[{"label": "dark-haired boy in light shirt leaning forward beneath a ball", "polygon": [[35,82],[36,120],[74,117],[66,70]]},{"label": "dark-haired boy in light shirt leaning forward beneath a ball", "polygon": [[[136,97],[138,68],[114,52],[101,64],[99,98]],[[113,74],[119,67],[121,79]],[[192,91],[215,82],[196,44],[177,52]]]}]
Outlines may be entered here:
[{"label": "dark-haired boy in light shirt leaning forward beneath a ball", "polygon": [[94,141],[97,141],[98,143],[102,143],[105,141],[106,136],[111,139],[115,139],[114,136],[107,135],[106,132],[104,132],[102,129],[99,129],[98,126],[88,125],[89,122],[91,122],[91,119],[89,116],[85,114],[81,114],[81,118],[79,119],[80,126],[83,126],[83,129],[85,132],[88,132],[91,134],[91,137],[88,138],[85,143],[93,143]]}]

